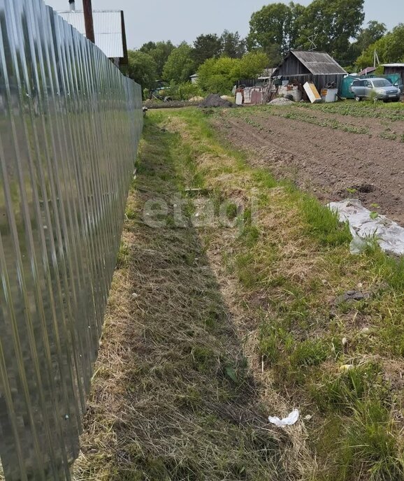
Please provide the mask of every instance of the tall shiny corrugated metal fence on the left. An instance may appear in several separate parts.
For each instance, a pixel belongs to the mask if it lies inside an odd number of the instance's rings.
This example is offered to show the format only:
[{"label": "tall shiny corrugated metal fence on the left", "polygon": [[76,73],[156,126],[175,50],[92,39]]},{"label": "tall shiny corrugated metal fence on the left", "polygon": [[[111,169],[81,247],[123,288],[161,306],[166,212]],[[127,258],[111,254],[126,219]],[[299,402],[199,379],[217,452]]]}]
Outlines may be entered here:
[{"label": "tall shiny corrugated metal fence on the left", "polygon": [[67,480],[141,92],[43,0],[0,0],[0,29],[0,457],[6,480]]}]

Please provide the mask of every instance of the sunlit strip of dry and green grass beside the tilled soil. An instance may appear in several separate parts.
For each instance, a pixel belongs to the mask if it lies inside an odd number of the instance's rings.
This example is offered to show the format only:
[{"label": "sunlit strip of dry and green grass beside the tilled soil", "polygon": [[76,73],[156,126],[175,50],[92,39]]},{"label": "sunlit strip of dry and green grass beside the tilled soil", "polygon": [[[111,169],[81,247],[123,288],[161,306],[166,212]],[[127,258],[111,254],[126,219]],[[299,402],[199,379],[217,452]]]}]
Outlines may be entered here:
[{"label": "sunlit strip of dry and green grass beside the tilled soil", "polygon": [[[200,115],[194,117],[201,122]],[[254,168],[254,152],[253,168],[240,165],[238,152],[195,123],[191,113],[184,113],[172,116],[169,127],[191,145],[195,170],[222,197],[257,197],[254,224],[241,236],[226,229],[200,235],[239,337],[245,339],[249,365],[263,387],[261,399],[279,396],[287,405],[296,404],[303,416],[310,415],[305,424],[312,454],[305,451],[305,429],[304,449],[289,459],[289,468],[300,469],[302,479],[401,479],[403,382],[397,381],[404,365],[399,357],[403,329],[397,323],[403,309],[403,262],[380,252],[352,257],[347,231],[317,201],[289,183],[275,182],[265,168]],[[226,162],[205,161],[215,155]],[[351,289],[372,295],[366,302],[336,307],[338,295]],[[372,327],[370,336],[361,333],[364,326]],[[359,369],[356,377],[364,394],[347,396],[345,385],[338,385],[345,364]],[[363,364],[377,367],[361,370]],[[342,391],[322,403],[322,390],[333,383]],[[333,413],[333,396],[345,399],[345,412]],[[377,429],[388,433],[387,451]],[[365,443],[363,449],[356,447],[359,442]],[[297,468],[302,453],[307,462]]]}]

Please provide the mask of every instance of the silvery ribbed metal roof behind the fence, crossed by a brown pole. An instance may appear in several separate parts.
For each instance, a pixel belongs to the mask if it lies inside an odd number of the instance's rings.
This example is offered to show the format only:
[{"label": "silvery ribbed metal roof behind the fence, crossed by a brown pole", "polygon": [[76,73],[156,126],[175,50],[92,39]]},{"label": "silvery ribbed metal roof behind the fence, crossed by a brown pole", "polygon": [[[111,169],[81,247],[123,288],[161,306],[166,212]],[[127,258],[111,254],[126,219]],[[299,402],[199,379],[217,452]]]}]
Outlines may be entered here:
[{"label": "silvery ribbed metal roof behind the fence, crossed by a brown pole", "polygon": [[[85,36],[82,10],[58,12],[66,22]],[[122,32],[121,10],[93,10],[95,43],[105,55],[112,58],[126,57],[124,32]]]}]

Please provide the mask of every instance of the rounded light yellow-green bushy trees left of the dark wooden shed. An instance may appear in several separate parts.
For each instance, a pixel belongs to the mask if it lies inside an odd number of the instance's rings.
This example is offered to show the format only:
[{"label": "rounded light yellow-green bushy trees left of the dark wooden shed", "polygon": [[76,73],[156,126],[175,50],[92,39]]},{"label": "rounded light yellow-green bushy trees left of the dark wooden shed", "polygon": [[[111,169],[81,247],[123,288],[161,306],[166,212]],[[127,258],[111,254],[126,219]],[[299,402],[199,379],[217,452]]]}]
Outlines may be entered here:
[{"label": "rounded light yellow-green bushy trees left of the dark wooden shed", "polygon": [[250,52],[241,59],[208,59],[198,69],[198,85],[205,92],[226,94],[236,80],[257,78],[266,66],[268,57],[263,52]]}]

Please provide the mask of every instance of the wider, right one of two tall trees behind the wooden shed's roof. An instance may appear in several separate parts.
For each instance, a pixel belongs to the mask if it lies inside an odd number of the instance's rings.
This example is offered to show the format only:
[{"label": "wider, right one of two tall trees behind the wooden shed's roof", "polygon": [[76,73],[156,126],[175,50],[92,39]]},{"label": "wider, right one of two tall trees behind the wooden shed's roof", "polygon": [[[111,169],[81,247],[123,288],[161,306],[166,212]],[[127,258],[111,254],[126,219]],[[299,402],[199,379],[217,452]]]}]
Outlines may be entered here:
[{"label": "wider, right one of two tall trees behind the wooden shed's roof", "polygon": [[317,50],[324,50],[343,63],[350,39],[356,38],[363,24],[364,0],[314,0],[301,17],[297,43],[310,48],[309,37],[315,36]]}]

